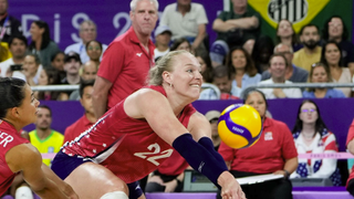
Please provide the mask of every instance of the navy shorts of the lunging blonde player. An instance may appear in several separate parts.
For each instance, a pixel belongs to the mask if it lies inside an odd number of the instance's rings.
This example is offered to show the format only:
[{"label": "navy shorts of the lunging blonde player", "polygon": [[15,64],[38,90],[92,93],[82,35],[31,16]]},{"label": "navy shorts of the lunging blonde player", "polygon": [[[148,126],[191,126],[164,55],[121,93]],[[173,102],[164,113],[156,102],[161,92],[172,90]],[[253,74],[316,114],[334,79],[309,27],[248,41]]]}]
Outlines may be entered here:
[{"label": "navy shorts of the lunging blonde player", "polygon": [[[91,160],[77,156],[67,156],[66,154],[59,151],[52,161],[51,169],[64,180],[76,167],[87,161]],[[143,195],[138,181],[127,184],[127,186],[129,188],[129,199],[137,199]]]}]

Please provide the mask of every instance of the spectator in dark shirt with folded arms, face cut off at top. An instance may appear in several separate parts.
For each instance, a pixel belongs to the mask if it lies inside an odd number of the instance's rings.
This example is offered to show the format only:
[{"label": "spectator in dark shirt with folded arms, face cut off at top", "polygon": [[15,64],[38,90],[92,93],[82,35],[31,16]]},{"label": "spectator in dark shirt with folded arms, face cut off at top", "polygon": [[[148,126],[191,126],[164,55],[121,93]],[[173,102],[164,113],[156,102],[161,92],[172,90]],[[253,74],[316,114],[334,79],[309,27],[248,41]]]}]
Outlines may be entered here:
[{"label": "spectator in dark shirt with folded arms, face cut off at top", "polygon": [[222,11],[212,23],[218,33],[217,40],[225,41],[229,48],[243,45],[260,34],[261,15],[247,9],[247,0],[231,0],[232,10]]}]

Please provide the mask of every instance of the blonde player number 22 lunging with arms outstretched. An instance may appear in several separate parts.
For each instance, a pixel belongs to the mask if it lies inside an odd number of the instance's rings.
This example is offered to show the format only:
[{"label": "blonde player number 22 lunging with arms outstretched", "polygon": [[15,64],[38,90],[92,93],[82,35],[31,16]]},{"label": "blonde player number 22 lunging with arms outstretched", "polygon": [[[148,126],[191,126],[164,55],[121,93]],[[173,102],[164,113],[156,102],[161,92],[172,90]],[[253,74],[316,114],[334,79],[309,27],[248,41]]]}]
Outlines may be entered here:
[{"label": "blonde player number 22 lunging with arms outstretched", "polygon": [[81,198],[145,198],[134,181],[154,171],[174,147],[221,188],[222,198],[244,198],[214,149],[208,121],[190,104],[199,98],[201,81],[194,55],[187,51],[168,53],[150,70],[149,85],[66,143],[52,169]]}]

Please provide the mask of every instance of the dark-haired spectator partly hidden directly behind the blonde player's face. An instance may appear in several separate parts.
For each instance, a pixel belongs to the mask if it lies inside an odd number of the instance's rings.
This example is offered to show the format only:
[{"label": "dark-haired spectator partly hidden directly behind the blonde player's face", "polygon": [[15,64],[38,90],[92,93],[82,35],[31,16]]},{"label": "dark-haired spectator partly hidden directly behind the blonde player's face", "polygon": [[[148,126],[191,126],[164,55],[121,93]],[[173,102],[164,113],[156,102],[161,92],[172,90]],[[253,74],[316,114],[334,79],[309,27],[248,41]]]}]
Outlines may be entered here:
[{"label": "dark-haired spectator partly hidden directly behind the blonde player's face", "polygon": [[202,82],[211,83],[212,82],[212,66],[209,53],[205,50],[197,50],[195,56],[200,63],[200,73],[202,75]]}]

